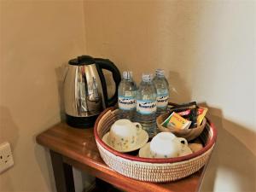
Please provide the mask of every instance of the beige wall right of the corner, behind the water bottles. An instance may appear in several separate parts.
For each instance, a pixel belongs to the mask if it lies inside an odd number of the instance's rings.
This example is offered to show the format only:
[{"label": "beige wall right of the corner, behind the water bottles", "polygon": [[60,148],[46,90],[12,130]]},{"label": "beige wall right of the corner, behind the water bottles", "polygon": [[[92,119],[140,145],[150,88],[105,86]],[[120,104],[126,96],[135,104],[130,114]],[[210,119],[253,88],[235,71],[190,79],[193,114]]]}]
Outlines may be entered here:
[{"label": "beige wall right of the corner, behind the water bottles", "polygon": [[255,191],[255,1],[85,1],[90,55],[135,79],[166,70],[172,101],[207,104],[218,145],[201,191]]}]

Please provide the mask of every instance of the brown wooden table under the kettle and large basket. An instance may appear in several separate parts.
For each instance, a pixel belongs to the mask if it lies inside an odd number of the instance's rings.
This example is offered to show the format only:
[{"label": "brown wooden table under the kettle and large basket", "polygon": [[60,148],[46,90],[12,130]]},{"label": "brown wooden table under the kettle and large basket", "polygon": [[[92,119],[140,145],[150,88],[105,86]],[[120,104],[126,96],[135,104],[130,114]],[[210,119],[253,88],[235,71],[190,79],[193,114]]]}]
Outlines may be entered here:
[{"label": "brown wooden table under the kettle and large basket", "polygon": [[200,189],[206,166],[199,172],[170,183],[147,183],[120,175],[110,169],[102,160],[96,147],[93,129],[76,129],[66,123],[52,126],[37,137],[37,142],[49,148],[58,192],[73,192],[73,169],[84,172],[111,183],[125,191],[147,192],[195,192]]}]

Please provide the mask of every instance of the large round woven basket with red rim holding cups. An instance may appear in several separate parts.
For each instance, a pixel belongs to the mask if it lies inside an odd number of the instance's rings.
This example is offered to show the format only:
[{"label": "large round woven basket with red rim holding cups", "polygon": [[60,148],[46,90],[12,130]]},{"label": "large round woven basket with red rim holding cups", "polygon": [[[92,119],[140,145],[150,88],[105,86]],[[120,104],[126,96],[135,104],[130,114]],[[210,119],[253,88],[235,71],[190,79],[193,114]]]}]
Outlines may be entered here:
[{"label": "large round woven basket with red rim holding cups", "polygon": [[177,158],[149,159],[122,154],[102,142],[115,120],[119,119],[118,109],[107,108],[96,120],[94,134],[96,144],[105,163],[114,171],[126,177],[148,182],[168,182],[187,177],[197,172],[207,163],[214,147],[217,131],[207,123],[201,133],[201,141],[205,147],[194,154]]}]

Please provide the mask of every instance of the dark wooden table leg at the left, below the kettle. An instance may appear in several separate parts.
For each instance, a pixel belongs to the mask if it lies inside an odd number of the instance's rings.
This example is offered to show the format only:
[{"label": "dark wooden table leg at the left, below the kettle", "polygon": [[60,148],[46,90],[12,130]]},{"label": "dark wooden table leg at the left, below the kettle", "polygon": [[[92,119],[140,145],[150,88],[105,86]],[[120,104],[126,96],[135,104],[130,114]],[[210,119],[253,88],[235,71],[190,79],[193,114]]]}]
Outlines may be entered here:
[{"label": "dark wooden table leg at the left, below the kettle", "polygon": [[51,164],[55,175],[57,192],[75,192],[72,166],[63,162],[61,154],[49,150]]}]

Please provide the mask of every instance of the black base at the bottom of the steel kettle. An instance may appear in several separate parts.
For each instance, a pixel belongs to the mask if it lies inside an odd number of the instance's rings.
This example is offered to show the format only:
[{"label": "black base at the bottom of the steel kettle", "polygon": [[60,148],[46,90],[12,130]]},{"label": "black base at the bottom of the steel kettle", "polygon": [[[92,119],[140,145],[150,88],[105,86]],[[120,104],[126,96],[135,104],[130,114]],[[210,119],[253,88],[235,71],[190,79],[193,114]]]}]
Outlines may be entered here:
[{"label": "black base at the bottom of the steel kettle", "polygon": [[89,129],[94,126],[97,117],[98,114],[90,117],[73,117],[71,115],[66,114],[66,122],[67,125],[70,125],[75,128]]}]

